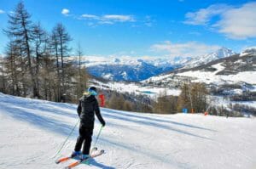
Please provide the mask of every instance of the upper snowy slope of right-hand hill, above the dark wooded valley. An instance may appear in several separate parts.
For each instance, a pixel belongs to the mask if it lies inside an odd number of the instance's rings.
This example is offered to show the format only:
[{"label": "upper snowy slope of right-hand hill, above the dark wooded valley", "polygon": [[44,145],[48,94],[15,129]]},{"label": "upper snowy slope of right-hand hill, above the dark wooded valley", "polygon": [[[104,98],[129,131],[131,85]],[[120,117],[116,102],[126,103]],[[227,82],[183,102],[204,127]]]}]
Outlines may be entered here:
[{"label": "upper snowy slope of right-hand hill, above the dark wooded valley", "polygon": [[177,83],[192,80],[220,85],[246,82],[256,85],[256,54],[255,48],[246,49],[241,54],[217,59],[206,65],[199,65],[190,69],[173,70],[160,76],[149,78],[144,83],[177,86]]}]

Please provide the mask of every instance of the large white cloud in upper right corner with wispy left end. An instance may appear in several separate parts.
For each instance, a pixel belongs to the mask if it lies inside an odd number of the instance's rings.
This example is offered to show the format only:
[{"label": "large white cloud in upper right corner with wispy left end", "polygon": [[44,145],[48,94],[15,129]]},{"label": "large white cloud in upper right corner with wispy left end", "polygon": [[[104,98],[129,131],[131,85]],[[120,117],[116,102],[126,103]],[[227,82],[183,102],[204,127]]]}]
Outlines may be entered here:
[{"label": "large white cloud in upper right corner with wispy left end", "polygon": [[245,3],[241,7],[215,4],[185,15],[185,24],[210,25],[231,39],[256,37],[256,3]]}]

